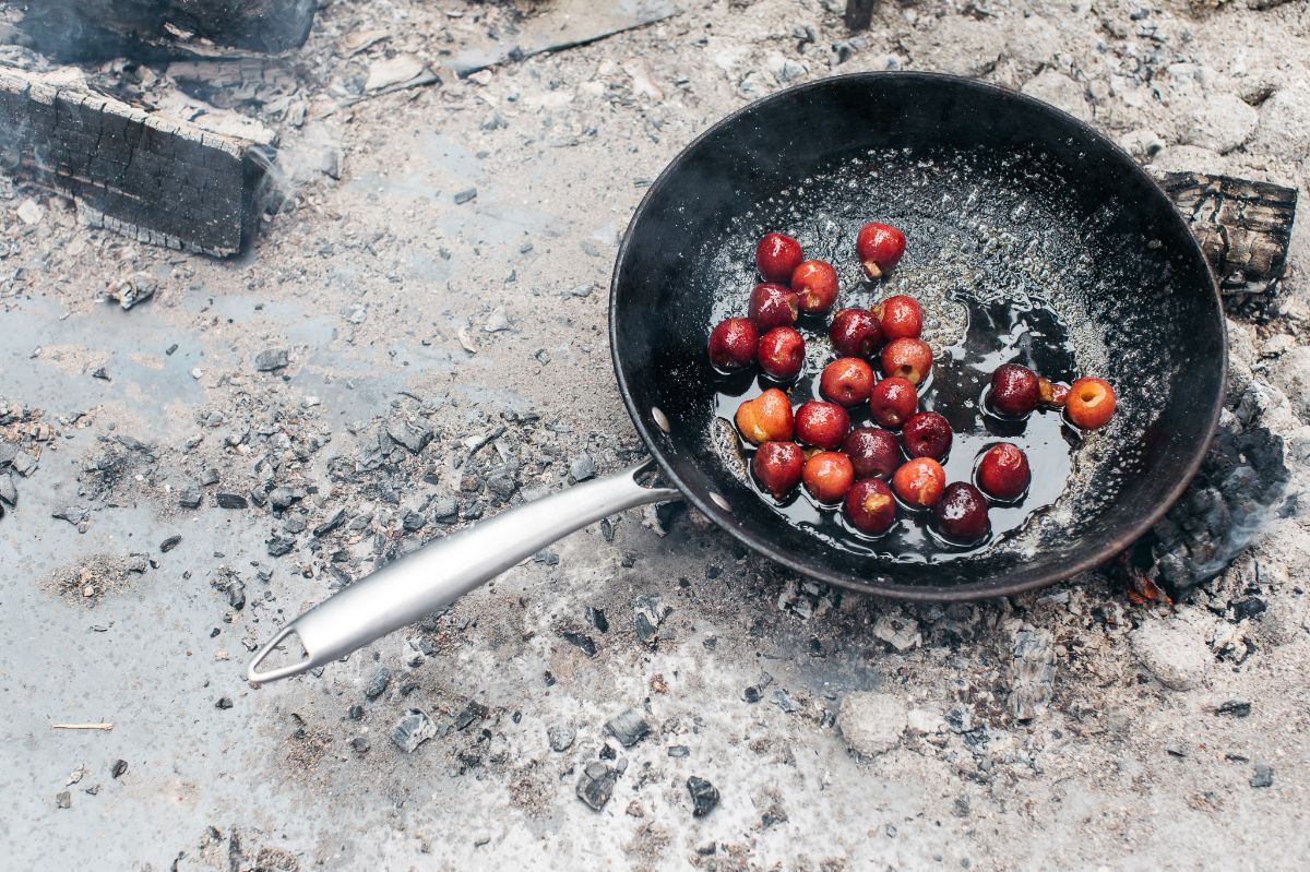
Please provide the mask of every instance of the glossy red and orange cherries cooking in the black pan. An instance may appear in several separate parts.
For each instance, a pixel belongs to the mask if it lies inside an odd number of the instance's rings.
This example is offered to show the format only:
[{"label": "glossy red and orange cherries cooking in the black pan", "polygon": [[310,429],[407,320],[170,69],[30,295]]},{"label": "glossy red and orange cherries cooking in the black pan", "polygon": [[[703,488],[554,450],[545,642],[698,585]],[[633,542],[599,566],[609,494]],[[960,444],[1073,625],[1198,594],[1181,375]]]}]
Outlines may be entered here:
[{"label": "glossy red and orange cherries cooking in the black pan", "polygon": [[[865,274],[880,279],[900,262],[905,234],[869,223],[855,251]],[[764,282],[751,292],[749,317],[714,327],[710,361],[724,372],[757,364],[769,380],[787,385],[806,357],[804,336],[794,325],[802,316],[821,317],[836,304],[837,271],[825,261],[806,261],[800,244],[781,233],[765,236],[755,258]],[[989,498],[1019,503],[1032,478],[1028,458],[1017,445],[998,443],[975,466],[976,484],[946,483],[942,461],[951,449],[950,422],[918,410],[918,386],[933,368],[922,329],[922,308],[905,295],[872,309],[840,309],[828,329],[838,357],[819,378],[821,401],[793,410],[786,393],[769,388],[743,402],[736,427],[757,446],[751,469],[761,487],[783,501],[803,483],[820,504],[841,504],[848,521],[870,536],[891,529],[899,500],[909,511],[931,511],[938,532],[950,541],[984,539]],[[878,361],[880,378],[870,360]],[[848,409],[866,402],[879,427],[853,429]],[[1072,424],[1095,429],[1110,422],[1115,391],[1102,378],[1065,386],[1027,367],[1003,364],[992,374],[986,403],[1009,419],[1022,419],[1038,406],[1064,409]]]}]

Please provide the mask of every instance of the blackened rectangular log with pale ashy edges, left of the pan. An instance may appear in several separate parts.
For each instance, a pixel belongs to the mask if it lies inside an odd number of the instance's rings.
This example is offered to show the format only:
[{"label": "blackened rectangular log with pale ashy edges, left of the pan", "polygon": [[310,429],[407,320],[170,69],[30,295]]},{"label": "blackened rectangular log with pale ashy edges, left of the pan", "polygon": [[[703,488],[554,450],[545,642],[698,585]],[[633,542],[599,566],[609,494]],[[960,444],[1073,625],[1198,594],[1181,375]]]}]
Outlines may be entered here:
[{"label": "blackened rectangular log with pale ashy edges, left of the pan", "polygon": [[83,221],[143,242],[240,251],[275,196],[266,145],[0,69],[4,168],[72,195]]}]

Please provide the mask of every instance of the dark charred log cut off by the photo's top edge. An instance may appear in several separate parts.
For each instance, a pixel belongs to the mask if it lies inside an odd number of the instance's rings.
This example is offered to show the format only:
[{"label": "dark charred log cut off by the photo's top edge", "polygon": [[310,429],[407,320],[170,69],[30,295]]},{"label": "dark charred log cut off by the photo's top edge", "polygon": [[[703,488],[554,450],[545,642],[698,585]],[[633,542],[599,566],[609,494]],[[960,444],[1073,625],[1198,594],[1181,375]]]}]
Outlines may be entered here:
[{"label": "dark charred log cut off by the photo's top edge", "polygon": [[[156,59],[187,34],[275,54],[304,45],[316,0],[29,0],[20,27],[59,60]],[[166,54],[166,52],[165,52]]]}]

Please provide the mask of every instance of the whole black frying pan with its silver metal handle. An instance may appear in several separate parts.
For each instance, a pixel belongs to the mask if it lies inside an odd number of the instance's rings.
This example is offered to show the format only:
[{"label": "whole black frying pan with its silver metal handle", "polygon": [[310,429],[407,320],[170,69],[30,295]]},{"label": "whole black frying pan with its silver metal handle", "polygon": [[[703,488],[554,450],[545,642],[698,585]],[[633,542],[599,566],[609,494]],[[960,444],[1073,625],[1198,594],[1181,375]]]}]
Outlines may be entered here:
[{"label": "whole black frying pan with its silver metal handle", "polygon": [[[918,562],[834,547],[761,499],[726,445],[717,406],[724,385],[706,338],[720,317],[744,312],[756,240],[789,232],[807,257],[853,264],[855,230],[871,219],[907,232],[910,246],[891,280],[924,295],[934,323],[948,329],[1041,300],[1068,327],[1073,363],[1116,386],[1116,419],[1078,449],[1064,496],[994,547]],[[840,268],[842,305],[887,293]],[[1048,585],[1103,563],[1169,509],[1205,454],[1224,398],[1218,289],[1165,194],[1087,124],[942,75],[825,79],[702,134],[633,216],[609,329],[624,402],[676,490],[643,487],[639,470],[627,470],[438,539],[287,625],[250,664],[250,678],[328,663],[571,530],[677,496],[756,551],[853,590],[924,601]],[[1044,342],[1002,351],[1057,377],[1078,374],[1058,372],[1070,363],[1047,359]],[[307,657],[259,672],[291,632]]]}]

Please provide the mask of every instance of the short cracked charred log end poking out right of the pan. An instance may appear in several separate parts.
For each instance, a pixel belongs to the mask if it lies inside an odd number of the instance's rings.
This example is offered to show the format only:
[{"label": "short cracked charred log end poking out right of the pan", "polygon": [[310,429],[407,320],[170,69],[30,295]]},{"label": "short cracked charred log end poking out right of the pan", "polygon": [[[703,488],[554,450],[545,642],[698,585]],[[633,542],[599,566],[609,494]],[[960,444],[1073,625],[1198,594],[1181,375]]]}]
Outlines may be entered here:
[{"label": "short cracked charred log end poking out right of the pan", "polygon": [[1277,296],[1288,266],[1296,189],[1200,173],[1169,173],[1161,186],[1191,221],[1230,309]]}]

